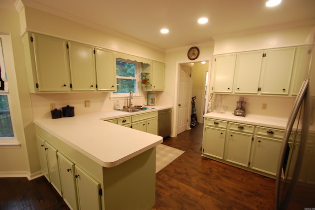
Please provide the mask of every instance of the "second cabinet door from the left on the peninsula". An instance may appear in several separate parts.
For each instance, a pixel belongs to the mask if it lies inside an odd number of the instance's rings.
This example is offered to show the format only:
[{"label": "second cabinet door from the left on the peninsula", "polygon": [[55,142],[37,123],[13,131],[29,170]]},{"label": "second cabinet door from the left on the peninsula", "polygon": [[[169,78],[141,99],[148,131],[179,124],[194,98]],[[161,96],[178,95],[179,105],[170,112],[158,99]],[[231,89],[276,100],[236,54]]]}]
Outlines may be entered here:
[{"label": "second cabinet door from the left on the peninsula", "polygon": [[50,183],[55,187],[57,192],[62,195],[62,188],[60,182],[60,174],[59,174],[59,166],[57,159],[57,149],[55,149],[51,144],[45,142],[46,144],[46,152],[48,159],[48,167],[49,167],[49,175],[50,175]]}]

